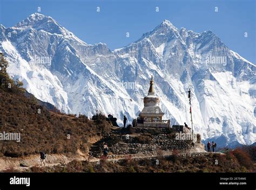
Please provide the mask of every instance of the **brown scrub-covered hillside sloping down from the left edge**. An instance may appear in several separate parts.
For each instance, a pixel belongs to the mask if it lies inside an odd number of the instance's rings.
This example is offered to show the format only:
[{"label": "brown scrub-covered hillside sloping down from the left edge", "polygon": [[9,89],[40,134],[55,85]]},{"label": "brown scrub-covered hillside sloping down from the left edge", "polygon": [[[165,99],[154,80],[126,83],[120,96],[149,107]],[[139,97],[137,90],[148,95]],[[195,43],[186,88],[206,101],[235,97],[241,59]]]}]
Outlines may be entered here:
[{"label": "brown scrub-covered hillside sloping down from the left edge", "polygon": [[84,115],[76,117],[50,111],[34,96],[28,96],[3,69],[0,79],[0,132],[21,133],[20,142],[0,140],[0,156],[21,157],[40,151],[87,153],[90,143],[111,129],[105,118],[93,121]]}]

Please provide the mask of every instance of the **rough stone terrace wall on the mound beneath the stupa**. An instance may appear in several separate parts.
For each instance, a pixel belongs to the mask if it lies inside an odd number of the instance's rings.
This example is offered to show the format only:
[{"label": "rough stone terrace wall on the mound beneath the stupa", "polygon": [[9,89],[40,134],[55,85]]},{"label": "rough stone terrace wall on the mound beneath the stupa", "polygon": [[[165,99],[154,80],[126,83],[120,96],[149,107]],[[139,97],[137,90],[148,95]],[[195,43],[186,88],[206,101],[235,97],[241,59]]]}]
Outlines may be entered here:
[{"label": "rough stone terrace wall on the mound beneath the stupa", "polygon": [[[181,131],[180,131],[181,132]],[[204,151],[200,135],[193,140],[177,139],[178,130],[172,128],[126,128],[114,131],[100,139],[91,149],[91,155],[100,157],[103,153],[102,143],[107,143],[110,154],[161,154],[161,151]],[[186,134],[190,134],[187,131]]]}]

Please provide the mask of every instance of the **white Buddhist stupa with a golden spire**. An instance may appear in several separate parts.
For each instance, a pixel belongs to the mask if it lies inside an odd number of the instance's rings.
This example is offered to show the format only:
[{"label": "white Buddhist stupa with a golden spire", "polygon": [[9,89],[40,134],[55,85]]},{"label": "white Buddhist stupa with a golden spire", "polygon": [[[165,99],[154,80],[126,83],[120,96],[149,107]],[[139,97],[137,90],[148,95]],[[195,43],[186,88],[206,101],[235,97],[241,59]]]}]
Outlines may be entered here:
[{"label": "white Buddhist stupa with a golden spire", "polygon": [[164,112],[159,107],[160,98],[154,95],[154,81],[153,76],[150,81],[149,93],[144,97],[144,108],[140,112],[139,117],[144,118],[146,122],[161,121]]}]

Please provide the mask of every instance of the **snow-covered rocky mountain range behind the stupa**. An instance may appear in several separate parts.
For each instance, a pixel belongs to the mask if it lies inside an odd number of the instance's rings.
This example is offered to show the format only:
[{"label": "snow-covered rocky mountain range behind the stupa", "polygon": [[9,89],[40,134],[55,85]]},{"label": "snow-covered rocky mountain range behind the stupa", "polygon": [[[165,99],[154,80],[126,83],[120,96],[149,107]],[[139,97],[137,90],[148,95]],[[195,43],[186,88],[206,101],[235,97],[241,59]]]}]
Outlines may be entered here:
[{"label": "snow-covered rocky mountain range behind the stupa", "polygon": [[256,141],[255,65],[230,50],[213,32],[178,30],[168,20],[134,43],[111,51],[88,45],[54,19],[35,13],[14,27],[0,27],[8,72],[29,93],[65,112],[89,117],[96,110],[131,122],[154,76],[164,118],[225,143]]}]

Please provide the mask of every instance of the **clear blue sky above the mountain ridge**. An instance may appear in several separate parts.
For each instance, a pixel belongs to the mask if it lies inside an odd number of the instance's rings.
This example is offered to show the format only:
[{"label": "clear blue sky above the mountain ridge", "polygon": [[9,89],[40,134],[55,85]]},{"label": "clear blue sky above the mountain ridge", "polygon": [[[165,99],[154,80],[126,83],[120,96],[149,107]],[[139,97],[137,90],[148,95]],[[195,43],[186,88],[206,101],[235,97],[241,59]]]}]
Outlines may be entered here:
[{"label": "clear blue sky above the mountain ridge", "polygon": [[[0,23],[11,27],[41,7],[87,44],[106,43],[111,50],[139,39],[163,20],[194,32],[212,30],[231,50],[256,63],[254,0],[0,0]],[[96,11],[97,6],[100,12]],[[159,12],[156,12],[156,6]],[[215,6],[218,12],[214,11]],[[126,37],[126,32],[130,37]],[[244,33],[248,37],[244,37]]]}]

